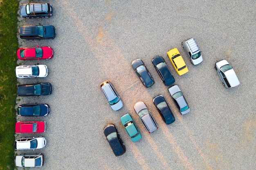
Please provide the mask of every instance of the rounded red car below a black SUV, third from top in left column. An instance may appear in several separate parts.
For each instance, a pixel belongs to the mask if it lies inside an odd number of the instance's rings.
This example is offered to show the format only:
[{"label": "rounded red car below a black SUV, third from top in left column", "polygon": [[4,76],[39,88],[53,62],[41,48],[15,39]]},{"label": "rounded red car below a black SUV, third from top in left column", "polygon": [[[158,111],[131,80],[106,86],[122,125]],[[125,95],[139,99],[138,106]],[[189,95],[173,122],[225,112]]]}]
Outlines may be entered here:
[{"label": "rounded red car below a black SUV, third from top in left column", "polygon": [[51,59],[53,57],[52,47],[23,47],[17,51],[18,59],[21,60],[36,60],[36,59]]}]

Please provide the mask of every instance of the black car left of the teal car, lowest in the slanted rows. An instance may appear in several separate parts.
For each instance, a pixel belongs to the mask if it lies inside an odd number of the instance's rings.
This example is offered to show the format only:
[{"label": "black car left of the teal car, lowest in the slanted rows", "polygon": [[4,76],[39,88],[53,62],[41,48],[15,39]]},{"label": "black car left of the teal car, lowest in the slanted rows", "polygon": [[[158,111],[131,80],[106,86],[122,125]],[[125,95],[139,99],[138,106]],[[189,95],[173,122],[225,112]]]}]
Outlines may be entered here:
[{"label": "black car left of the teal car, lowest in the slanted rows", "polygon": [[117,132],[117,127],[114,124],[108,124],[104,127],[103,132],[116,157],[123,155],[126,152],[126,148],[119,133]]}]

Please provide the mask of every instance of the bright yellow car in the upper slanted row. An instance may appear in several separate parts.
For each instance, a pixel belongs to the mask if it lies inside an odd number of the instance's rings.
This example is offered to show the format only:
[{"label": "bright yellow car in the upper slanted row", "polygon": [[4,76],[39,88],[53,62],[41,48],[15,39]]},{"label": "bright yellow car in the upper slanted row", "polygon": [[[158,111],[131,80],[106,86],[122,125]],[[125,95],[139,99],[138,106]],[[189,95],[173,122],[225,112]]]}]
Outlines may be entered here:
[{"label": "bright yellow car in the upper slanted row", "polygon": [[176,72],[181,76],[186,72],[189,72],[189,69],[186,67],[186,63],[180,55],[180,52],[177,48],[173,48],[167,52],[173,67],[175,68]]}]

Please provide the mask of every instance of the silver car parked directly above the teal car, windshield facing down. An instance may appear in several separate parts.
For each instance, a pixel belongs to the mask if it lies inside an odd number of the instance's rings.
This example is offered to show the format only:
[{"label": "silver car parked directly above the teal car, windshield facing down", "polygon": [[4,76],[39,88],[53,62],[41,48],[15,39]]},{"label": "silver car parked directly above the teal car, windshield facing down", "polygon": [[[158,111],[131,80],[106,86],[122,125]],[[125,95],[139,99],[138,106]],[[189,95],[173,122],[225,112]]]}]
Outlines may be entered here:
[{"label": "silver car parked directly above the teal car, windshield facing down", "polygon": [[123,107],[123,102],[110,81],[104,81],[101,83],[100,87],[104,96],[108,100],[108,104],[113,110],[117,111]]}]

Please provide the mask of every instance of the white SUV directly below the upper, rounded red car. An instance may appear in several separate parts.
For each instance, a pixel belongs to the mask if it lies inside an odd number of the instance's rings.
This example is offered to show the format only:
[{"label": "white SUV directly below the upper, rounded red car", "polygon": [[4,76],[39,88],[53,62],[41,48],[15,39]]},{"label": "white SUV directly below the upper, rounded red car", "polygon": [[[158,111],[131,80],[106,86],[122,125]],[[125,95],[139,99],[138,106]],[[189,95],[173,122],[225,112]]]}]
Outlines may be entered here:
[{"label": "white SUV directly below the upper, rounded red car", "polygon": [[17,78],[46,77],[48,67],[46,65],[19,65],[16,67]]}]

